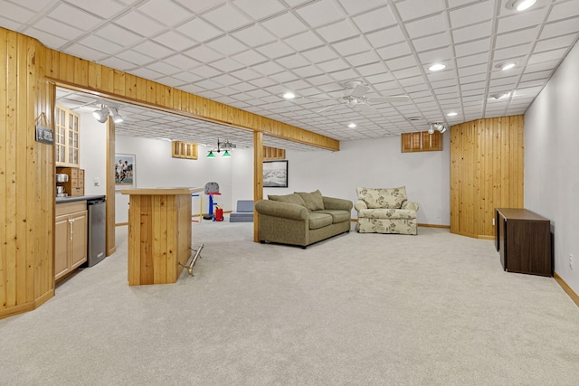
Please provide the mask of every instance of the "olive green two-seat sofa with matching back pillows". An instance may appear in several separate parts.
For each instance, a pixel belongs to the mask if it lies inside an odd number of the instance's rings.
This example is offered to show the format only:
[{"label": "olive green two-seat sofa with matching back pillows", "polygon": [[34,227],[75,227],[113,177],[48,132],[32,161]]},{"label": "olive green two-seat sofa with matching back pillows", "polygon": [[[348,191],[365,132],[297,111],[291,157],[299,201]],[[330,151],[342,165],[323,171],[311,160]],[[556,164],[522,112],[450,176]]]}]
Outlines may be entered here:
[{"label": "olive green two-seat sofa with matching back pillows", "polygon": [[319,191],[268,195],[255,202],[261,243],[308,245],[350,231],[353,203]]}]

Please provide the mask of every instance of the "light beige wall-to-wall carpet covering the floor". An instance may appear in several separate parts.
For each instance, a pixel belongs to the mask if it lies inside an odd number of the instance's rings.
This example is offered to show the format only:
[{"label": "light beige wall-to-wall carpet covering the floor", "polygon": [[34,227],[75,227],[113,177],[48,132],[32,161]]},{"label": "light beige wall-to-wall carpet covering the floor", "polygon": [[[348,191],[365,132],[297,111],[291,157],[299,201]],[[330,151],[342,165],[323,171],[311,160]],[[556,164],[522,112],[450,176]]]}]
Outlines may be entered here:
[{"label": "light beige wall-to-wall carpet covering the floor", "polygon": [[128,287],[118,251],[0,320],[3,385],[574,385],[579,308],[494,243],[420,228],[299,249],[193,224],[195,277]]}]

